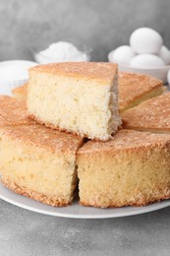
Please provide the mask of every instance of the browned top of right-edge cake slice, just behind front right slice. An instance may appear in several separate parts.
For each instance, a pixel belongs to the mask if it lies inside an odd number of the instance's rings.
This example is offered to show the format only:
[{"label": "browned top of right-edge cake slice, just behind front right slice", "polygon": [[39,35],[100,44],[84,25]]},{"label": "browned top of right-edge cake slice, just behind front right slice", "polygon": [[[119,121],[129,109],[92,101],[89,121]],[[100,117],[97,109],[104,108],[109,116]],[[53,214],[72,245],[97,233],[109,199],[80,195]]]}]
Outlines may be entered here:
[{"label": "browned top of right-edge cake slice, just behind front right slice", "polygon": [[170,93],[145,100],[122,114],[124,128],[170,132]]}]

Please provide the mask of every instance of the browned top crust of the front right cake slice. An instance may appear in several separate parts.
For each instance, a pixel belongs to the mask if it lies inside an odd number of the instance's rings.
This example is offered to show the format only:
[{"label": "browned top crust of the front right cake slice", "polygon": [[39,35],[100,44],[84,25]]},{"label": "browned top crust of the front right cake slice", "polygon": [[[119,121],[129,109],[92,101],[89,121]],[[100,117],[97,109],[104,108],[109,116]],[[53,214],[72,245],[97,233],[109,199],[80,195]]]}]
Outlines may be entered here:
[{"label": "browned top crust of the front right cake slice", "polygon": [[88,141],[83,148],[80,149],[78,154],[92,156],[92,154],[103,154],[104,152],[109,154],[119,151],[138,151],[139,149],[150,147],[159,149],[166,143],[169,143],[170,145],[169,134],[154,134],[122,129],[108,142]]}]

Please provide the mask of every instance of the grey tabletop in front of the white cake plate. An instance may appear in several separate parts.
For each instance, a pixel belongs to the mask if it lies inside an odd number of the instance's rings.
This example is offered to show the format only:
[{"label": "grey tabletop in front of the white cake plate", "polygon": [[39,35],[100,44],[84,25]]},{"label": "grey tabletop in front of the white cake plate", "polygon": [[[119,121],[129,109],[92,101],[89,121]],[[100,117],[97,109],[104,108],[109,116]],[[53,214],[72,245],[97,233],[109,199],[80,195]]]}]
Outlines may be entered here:
[{"label": "grey tabletop in front of the white cake plate", "polygon": [[0,200],[0,256],[170,255],[170,207],[105,220],[33,213]]}]

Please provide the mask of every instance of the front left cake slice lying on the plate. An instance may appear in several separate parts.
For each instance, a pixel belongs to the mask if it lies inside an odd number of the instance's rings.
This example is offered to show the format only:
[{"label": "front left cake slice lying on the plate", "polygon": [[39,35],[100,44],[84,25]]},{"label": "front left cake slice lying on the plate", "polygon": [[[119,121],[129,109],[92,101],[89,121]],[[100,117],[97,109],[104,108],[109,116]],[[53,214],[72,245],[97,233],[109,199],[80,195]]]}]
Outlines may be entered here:
[{"label": "front left cake slice lying on the plate", "polygon": [[4,129],[1,141],[2,183],[18,194],[51,206],[72,203],[77,186],[77,135],[42,125]]}]

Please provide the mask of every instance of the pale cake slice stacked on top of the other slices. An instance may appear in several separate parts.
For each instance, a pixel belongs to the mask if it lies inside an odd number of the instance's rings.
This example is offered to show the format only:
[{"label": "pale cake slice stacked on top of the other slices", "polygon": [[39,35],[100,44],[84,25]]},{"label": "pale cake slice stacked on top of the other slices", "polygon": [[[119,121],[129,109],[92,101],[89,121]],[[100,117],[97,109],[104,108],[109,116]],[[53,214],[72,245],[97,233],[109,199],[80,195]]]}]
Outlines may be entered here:
[{"label": "pale cake slice stacked on top of the other slices", "polygon": [[39,123],[107,141],[121,124],[117,64],[65,62],[29,70],[28,115]]}]

